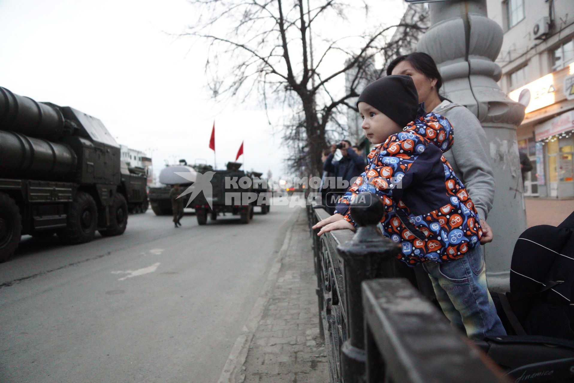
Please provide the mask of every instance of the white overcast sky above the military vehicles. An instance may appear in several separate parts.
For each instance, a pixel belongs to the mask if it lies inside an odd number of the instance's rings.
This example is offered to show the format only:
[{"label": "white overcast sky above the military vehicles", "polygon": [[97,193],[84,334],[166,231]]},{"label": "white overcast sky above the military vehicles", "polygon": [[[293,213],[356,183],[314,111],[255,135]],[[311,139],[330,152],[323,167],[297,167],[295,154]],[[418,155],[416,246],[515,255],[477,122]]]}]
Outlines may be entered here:
[{"label": "white overcast sky above the military vehicles", "polygon": [[[381,3],[393,5],[389,22],[406,7]],[[215,120],[218,167],[245,140],[246,169],[289,174],[282,111],[269,126],[256,100],[210,100],[205,46],[173,36],[194,15],[185,0],[0,0],[0,86],[99,118],[118,143],[152,154],[156,170],[180,158],[212,164]]]}]

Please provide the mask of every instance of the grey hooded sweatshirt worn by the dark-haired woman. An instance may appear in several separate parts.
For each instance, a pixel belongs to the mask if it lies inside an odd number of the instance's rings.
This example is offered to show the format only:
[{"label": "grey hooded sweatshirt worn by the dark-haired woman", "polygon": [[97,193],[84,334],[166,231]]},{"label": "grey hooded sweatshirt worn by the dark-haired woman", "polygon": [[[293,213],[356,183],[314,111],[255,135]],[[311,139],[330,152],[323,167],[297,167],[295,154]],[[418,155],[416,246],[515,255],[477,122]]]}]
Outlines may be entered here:
[{"label": "grey hooded sweatshirt worn by the dark-haired woman", "polygon": [[463,105],[444,100],[433,112],[451,123],[455,141],[444,154],[456,176],[466,186],[479,217],[486,221],[494,201],[494,177],[487,156],[487,142],[479,120]]}]

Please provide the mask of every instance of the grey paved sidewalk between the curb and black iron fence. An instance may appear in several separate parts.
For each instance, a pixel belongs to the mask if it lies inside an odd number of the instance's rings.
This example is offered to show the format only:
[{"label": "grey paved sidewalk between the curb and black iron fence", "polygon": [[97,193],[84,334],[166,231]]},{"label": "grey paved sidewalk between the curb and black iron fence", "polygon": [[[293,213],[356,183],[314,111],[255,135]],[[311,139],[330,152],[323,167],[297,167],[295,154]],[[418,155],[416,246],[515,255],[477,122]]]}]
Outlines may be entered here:
[{"label": "grey paved sidewalk between the curb and black iron fence", "polygon": [[305,210],[286,238],[277,280],[235,382],[326,383],[328,362],[319,335],[311,237]]}]

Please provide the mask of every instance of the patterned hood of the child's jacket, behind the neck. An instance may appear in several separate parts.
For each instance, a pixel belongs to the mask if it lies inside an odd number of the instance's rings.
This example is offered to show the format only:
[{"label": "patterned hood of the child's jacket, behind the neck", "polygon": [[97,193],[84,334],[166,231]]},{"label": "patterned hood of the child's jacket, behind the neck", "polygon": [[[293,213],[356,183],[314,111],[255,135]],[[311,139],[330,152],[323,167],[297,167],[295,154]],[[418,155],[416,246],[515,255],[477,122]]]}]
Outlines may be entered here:
[{"label": "patterned hood of the child's jacket, behind the neck", "polygon": [[443,153],[452,147],[455,140],[452,126],[448,120],[435,112],[426,113],[424,103],[418,107],[417,118],[409,122],[403,130],[423,136],[439,147]]}]

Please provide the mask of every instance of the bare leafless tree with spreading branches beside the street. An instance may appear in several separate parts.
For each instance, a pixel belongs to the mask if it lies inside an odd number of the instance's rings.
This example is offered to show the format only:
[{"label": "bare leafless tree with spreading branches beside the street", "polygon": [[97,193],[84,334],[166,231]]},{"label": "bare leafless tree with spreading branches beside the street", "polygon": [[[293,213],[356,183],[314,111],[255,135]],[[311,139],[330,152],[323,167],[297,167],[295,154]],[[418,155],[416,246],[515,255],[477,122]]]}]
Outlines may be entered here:
[{"label": "bare leafless tree with spreading branches beside the street", "polygon": [[[205,74],[213,96],[244,98],[257,92],[266,110],[277,101],[287,105],[292,112],[284,123],[288,160],[294,170],[307,174],[320,174],[329,126],[344,130],[338,116],[346,108],[355,108],[348,101],[381,76],[389,58],[414,44],[426,17],[420,14],[397,25],[375,25],[368,32],[333,37],[336,26],[347,22],[346,15],[356,11],[357,4],[367,18],[366,0],[189,2],[200,13],[185,34],[210,43]],[[390,38],[397,27],[401,38]],[[382,58],[379,71],[374,69],[375,57]],[[347,84],[338,89],[346,73]]]}]

